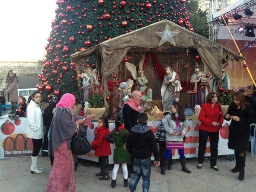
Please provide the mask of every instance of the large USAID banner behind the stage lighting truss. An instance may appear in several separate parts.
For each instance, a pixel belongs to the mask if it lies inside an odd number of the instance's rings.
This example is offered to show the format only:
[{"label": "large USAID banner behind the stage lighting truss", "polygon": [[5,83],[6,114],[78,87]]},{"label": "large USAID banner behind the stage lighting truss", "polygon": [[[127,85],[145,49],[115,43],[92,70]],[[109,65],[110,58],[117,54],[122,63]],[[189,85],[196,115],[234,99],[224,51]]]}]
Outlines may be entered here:
[{"label": "large USAID banner behind the stage lighting truss", "polygon": [[[256,41],[250,45],[250,43],[254,41],[256,37],[245,36],[246,30],[244,30],[244,26],[229,26],[229,28],[240,51],[249,45],[246,49],[244,49],[242,55],[246,58],[245,61],[249,66],[254,81],[256,81]],[[256,34],[256,30],[254,30],[254,33]],[[236,53],[239,53],[226,26],[220,26],[218,30],[217,43],[233,50]],[[247,86],[253,84],[247,70],[243,67],[243,63],[231,65],[232,66],[227,66],[224,69],[230,77],[230,88],[232,86],[237,89],[246,88]]]}]

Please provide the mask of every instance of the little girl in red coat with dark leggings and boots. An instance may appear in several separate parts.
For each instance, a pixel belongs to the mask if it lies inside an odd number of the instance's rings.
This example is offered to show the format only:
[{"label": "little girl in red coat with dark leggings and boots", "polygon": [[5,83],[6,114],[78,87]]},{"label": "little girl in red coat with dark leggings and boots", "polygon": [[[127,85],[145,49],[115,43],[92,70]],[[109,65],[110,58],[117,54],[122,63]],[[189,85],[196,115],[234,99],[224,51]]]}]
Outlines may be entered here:
[{"label": "little girl in red coat with dark leggings and boots", "polygon": [[108,165],[106,160],[108,155],[111,155],[110,144],[105,140],[105,137],[109,134],[108,119],[99,118],[98,128],[95,131],[95,140],[92,142],[92,149],[95,150],[95,155],[99,156],[100,172],[96,174],[99,180],[110,180],[108,174]]}]

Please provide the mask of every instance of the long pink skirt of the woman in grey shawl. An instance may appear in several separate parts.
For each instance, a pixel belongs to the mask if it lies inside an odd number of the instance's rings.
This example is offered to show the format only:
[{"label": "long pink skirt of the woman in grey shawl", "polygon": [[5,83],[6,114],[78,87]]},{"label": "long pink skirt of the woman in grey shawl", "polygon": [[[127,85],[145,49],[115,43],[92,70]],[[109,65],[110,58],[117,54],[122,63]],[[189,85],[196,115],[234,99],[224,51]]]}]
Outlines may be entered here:
[{"label": "long pink skirt of the woman in grey shawl", "polygon": [[75,192],[74,156],[67,148],[67,141],[54,151],[53,166],[46,191]]}]

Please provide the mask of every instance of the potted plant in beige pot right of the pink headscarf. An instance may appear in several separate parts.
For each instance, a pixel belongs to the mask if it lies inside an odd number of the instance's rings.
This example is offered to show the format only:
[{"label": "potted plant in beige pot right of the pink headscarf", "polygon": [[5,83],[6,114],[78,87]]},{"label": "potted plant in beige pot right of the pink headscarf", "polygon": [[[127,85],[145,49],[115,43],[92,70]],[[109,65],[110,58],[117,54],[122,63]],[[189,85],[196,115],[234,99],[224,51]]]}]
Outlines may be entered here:
[{"label": "potted plant in beige pot right of the pink headscarf", "polygon": [[87,100],[89,103],[89,107],[86,111],[88,115],[96,113],[96,116],[93,118],[94,120],[102,117],[106,111],[106,108],[104,107],[104,98],[104,94],[99,91],[91,90],[88,93]]}]

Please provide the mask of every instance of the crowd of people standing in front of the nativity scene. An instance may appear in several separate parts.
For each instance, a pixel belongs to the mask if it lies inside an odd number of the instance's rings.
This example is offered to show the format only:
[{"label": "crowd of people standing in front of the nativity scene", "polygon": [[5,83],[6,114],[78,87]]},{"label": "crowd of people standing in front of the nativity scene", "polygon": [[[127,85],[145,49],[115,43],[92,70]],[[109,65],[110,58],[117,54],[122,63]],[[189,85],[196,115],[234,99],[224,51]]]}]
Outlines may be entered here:
[{"label": "crowd of people standing in front of the nativity scene", "polygon": [[[17,103],[12,97],[18,82],[14,70],[10,70],[7,76],[6,96],[12,102],[12,110],[15,112]],[[16,93],[16,92],[15,92]],[[16,96],[15,96],[16,97]],[[141,112],[140,102],[142,94],[135,90],[131,99],[124,104],[122,109],[123,118],[115,120],[115,128],[110,132],[108,119],[101,117],[95,128],[95,139],[90,142],[95,155],[99,156],[100,172],[96,173],[99,180],[110,180],[107,164],[108,156],[111,155],[113,145],[114,167],[111,177],[111,187],[116,186],[117,171],[122,166],[124,186],[128,191],[136,191],[140,177],[143,177],[143,192],[149,191],[151,175],[151,154],[154,155],[154,165],[160,166],[160,174],[166,175],[166,167],[172,169],[172,150],[177,149],[180,155],[181,170],[186,173],[191,171],[186,167],[184,155],[184,142],[188,130],[188,120],[183,108],[178,102],[173,102],[170,111],[163,114],[163,119],[157,128],[157,133],[151,131],[148,116]],[[72,153],[71,139],[79,131],[86,132],[85,119],[73,114],[75,97],[64,94],[60,101],[55,96],[49,99],[49,106],[44,110],[40,104],[41,93],[35,91],[26,108],[26,99],[18,98],[18,108],[14,116],[18,118],[27,116],[27,137],[32,139],[33,152],[31,173],[43,173],[44,168],[38,166],[38,154],[42,146],[48,149],[52,163],[49,175],[47,192],[75,191],[75,169],[77,156]],[[239,172],[239,180],[244,180],[244,166],[248,140],[250,137],[250,123],[254,122],[254,109],[244,96],[243,90],[234,93],[233,103],[230,104],[227,113],[223,114],[219,96],[215,92],[207,95],[206,103],[202,105],[198,119],[201,121],[199,130],[198,169],[202,168],[207,139],[209,137],[211,148],[210,168],[219,171],[217,167],[219,130],[224,119],[232,119],[229,126],[228,148],[235,151],[236,166],[232,172]],[[12,111],[11,111],[12,112]],[[43,139],[44,138],[44,139]],[[44,140],[44,143],[43,143]],[[158,144],[157,144],[158,143]],[[159,149],[158,149],[159,145]],[[135,166],[135,170],[134,170]],[[131,175],[133,174],[133,175]],[[130,183],[128,178],[132,177]]]}]

